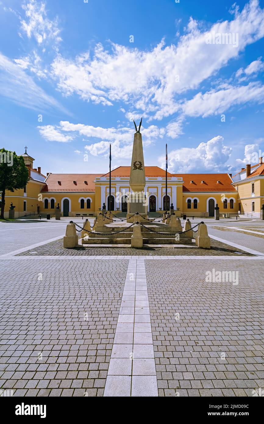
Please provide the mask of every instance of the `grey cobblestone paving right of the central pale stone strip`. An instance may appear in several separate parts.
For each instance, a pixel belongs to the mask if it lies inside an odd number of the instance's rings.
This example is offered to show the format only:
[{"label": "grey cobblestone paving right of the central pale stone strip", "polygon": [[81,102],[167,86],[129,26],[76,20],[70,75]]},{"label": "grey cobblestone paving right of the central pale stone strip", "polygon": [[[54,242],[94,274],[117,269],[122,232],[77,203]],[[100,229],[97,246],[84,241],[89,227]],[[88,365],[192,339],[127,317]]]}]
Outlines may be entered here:
[{"label": "grey cobblestone paving right of the central pale stone strip", "polygon": [[[252,396],[263,388],[264,262],[145,264],[159,396]],[[212,267],[238,271],[239,284],[206,282]]]}]

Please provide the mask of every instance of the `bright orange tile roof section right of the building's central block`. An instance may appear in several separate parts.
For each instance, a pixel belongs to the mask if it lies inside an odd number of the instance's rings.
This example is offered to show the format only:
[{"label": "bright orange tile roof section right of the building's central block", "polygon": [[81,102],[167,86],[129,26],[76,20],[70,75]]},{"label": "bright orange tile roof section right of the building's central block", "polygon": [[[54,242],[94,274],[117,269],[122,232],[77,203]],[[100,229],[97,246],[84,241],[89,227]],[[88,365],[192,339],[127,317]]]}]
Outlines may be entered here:
[{"label": "bright orange tile roof section right of the building's central block", "polygon": [[[175,177],[183,178],[183,192],[219,191],[236,192],[231,185],[229,174],[173,174]],[[191,183],[191,181],[194,181]],[[201,181],[205,181],[202,183]],[[218,183],[217,181],[220,181]]]}]

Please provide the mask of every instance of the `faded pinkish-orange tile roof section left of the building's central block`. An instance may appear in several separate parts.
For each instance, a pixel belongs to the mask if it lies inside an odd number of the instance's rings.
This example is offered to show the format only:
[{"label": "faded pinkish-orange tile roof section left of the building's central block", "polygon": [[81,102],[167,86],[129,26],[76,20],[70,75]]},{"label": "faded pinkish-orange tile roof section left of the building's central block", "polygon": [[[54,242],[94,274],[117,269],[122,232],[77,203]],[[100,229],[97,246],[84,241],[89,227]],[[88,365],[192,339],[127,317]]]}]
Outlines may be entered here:
[{"label": "faded pinkish-orange tile roof section left of the building's central block", "polygon": [[[46,179],[46,185],[41,190],[42,192],[95,192],[94,180],[102,174],[49,174]],[[61,181],[61,184],[58,184]],[[74,184],[73,181],[76,181]],[[84,183],[87,181],[87,184]]]}]

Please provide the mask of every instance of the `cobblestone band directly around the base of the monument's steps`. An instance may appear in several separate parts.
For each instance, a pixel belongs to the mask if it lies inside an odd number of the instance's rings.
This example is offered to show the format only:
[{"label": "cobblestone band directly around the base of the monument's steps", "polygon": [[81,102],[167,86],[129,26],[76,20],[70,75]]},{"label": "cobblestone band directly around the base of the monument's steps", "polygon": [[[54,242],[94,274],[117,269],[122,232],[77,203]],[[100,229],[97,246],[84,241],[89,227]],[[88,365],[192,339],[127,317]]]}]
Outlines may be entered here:
[{"label": "cobblestone band directly around the base of the monument's steps", "polygon": [[[239,253],[237,253],[239,252]],[[143,249],[134,249],[131,247],[128,248],[118,248],[118,247],[86,247],[86,248],[73,248],[73,249],[64,249],[63,242],[61,240],[56,240],[51,243],[45,244],[43,246],[39,246],[37,248],[33,248],[17,256],[145,256],[145,255],[158,255],[158,256],[251,256],[250,254],[234,248],[232,246],[221,243],[217,240],[211,239],[211,249],[199,249],[197,247],[177,247],[177,248],[143,248]]]}]

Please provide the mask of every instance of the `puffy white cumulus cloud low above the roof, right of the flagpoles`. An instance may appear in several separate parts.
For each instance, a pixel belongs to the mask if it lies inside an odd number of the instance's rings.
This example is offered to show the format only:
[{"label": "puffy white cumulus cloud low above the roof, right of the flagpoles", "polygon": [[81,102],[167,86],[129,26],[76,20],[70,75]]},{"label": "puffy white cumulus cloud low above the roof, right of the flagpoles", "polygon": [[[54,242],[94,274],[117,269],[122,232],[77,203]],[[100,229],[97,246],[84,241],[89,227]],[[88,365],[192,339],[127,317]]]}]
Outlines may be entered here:
[{"label": "puffy white cumulus cloud low above the roof, right of the flagpoles", "polygon": [[[200,143],[197,148],[180,148],[168,152],[168,170],[172,173],[218,173],[228,172],[226,164],[231,148],[225,146],[222,136]],[[161,167],[165,166],[164,157],[159,158]]]}]

